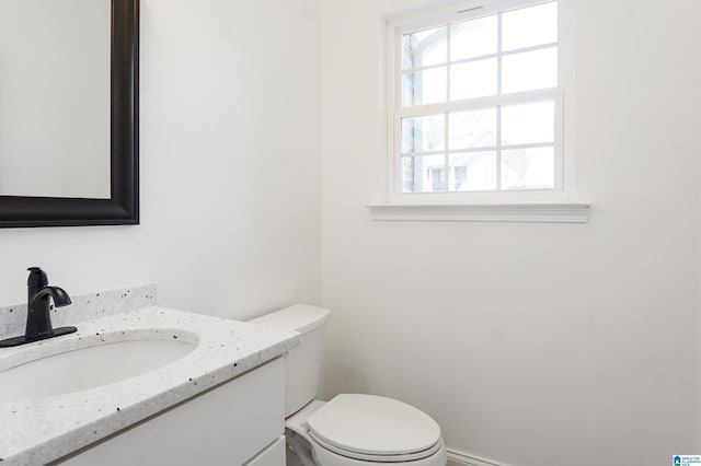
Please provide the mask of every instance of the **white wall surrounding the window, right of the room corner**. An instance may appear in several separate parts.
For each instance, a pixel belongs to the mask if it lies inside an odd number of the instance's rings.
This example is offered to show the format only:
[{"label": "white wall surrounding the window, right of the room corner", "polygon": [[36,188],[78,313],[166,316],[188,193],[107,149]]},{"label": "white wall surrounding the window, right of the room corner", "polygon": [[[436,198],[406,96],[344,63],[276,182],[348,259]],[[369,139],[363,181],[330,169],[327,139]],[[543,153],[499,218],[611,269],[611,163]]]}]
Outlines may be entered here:
[{"label": "white wall surrounding the window, right of the room corner", "polygon": [[374,223],[380,15],[425,3],[322,1],[326,396],[403,399],[514,466],[692,451],[701,4],[576,2],[589,223]]}]

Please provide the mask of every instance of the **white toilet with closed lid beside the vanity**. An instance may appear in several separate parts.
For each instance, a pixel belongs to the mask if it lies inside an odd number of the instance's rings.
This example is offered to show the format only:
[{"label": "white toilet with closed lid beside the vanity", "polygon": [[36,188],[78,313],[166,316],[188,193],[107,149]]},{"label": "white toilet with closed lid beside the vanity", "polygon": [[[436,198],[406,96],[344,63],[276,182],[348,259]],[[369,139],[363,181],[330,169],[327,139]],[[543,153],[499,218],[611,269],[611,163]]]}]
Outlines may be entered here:
[{"label": "white toilet with closed lid beside the vanity", "polygon": [[285,357],[287,465],[445,466],[438,423],[413,406],[363,394],[314,399],[329,316],[322,307],[295,305],[251,321],[300,334],[300,346]]}]

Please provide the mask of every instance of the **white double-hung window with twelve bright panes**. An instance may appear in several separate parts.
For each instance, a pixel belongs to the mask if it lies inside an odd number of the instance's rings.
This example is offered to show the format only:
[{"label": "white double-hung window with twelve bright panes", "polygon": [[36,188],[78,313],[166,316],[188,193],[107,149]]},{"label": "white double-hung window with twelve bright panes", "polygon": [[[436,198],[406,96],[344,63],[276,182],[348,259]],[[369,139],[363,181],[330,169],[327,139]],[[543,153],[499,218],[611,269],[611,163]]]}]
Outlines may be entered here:
[{"label": "white double-hung window with twelve bright panes", "polygon": [[515,0],[390,21],[391,198],[564,193],[558,19]]}]

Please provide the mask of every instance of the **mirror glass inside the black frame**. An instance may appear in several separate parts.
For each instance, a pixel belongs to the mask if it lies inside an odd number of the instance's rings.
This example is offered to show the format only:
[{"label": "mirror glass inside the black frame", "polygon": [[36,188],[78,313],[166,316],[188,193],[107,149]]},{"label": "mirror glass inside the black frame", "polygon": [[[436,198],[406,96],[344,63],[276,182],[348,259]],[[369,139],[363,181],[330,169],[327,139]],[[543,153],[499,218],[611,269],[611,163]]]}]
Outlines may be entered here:
[{"label": "mirror glass inside the black frame", "polygon": [[0,196],[108,199],[110,0],[0,0]]}]

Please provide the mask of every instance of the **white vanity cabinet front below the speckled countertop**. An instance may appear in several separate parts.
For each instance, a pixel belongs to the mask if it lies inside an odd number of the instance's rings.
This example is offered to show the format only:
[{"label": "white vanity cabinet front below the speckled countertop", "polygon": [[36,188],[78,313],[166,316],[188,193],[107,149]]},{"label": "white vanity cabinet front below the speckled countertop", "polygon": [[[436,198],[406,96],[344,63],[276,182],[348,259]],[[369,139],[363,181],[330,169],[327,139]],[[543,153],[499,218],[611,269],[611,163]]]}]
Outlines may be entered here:
[{"label": "white vanity cabinet front below the speckled countertop", "polygon": [[284,377],[274,359],[51,464],[284,466]]}]

